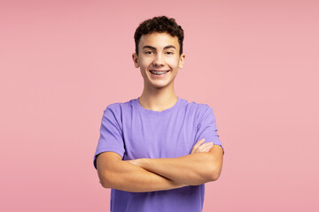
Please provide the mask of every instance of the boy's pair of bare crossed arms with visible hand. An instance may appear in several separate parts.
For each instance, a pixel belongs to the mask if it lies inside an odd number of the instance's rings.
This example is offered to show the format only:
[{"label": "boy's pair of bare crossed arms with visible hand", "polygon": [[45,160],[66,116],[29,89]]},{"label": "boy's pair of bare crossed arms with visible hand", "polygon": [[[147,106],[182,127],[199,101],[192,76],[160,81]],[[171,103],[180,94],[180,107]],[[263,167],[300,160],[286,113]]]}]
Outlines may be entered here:
[{"label": "boy's pair of bare crossed arms with visible hand", "polygon": [[100,183],[127,192],[153,192],[214,181],[222,170],[222,148],[203,142],[198,140],[190,155],[175,158],[122,161],[114,152],[101,153],[97,156]]}]

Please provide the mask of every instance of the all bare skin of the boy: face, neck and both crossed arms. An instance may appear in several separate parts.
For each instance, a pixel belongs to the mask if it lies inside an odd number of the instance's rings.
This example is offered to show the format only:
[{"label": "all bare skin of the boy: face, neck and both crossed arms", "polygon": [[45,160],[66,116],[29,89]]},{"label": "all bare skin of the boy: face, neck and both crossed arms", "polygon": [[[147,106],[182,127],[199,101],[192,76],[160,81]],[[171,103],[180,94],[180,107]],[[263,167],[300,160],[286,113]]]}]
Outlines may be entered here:
[{"label": "all bare skin of the boy: face, neck and both crossed arms", "polygon": [[[177,37],[167,33],[142,35],[139,54],[132,54],[136,68],[144,79],[139,97],[148,110],[162,111],[175,105],[174,81],[183,68],[185,55],[179,54]],[[169,71],[163,78],[150,71]],[[222,148],[198,140],[190,155],[176,158],[140,158],[122,161],[121,155],[104,152],[97,156],[97,173],[105,188],[128,192],[152,192],[183,186],[197,186],[219,178],[222,171]]]}]

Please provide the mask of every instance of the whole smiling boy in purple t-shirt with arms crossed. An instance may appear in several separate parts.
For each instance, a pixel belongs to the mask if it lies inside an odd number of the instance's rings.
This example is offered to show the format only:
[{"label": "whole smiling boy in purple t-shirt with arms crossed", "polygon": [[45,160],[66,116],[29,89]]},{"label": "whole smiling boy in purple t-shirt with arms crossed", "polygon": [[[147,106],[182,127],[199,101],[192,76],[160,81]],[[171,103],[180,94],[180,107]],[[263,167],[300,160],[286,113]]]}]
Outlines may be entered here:
[{"label": "whole smiling boy in purple t-shirt with arms crossed", "polygon": [[213,110],[175,95],[183,29],[165,16],[136,29],[137,99],[107,106],[94,157],[113,212],[199,212],[205,183],[219,178],[223,149]]}]

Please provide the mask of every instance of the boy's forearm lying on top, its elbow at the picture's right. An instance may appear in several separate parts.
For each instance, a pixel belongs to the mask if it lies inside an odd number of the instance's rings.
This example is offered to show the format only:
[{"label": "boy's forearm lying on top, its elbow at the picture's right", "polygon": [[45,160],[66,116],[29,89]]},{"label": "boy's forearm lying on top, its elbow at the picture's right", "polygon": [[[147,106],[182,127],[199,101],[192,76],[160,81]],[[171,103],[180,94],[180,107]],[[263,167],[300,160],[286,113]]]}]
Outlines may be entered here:
[{"label": "boy's forearm lying on top, its elbow at the picture's right", "polygon": [[136,164],[178,183],[197,186],[219,178],[222,161],[211,153],[196,153],[175,158],[143,158]]}]

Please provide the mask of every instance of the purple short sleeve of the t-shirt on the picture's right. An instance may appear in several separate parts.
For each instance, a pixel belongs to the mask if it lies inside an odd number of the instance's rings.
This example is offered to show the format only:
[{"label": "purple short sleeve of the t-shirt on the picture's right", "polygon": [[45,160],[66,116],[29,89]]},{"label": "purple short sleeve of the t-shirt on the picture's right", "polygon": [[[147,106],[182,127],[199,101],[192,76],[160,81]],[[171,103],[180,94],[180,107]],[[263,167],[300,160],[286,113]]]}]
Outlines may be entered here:
[{"label": "purple short sleeve of the t-shirt on the picture's right", "polygon": [[[196,142],[205,139],[205,143],[213,142],[222,147],[217,130],[213,109],[206,104],[199,104]],[[224,153],[223,147],[222,151]]]}]

